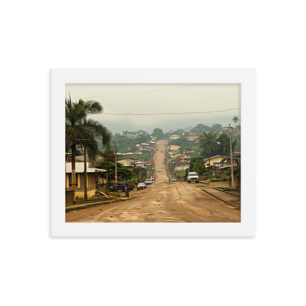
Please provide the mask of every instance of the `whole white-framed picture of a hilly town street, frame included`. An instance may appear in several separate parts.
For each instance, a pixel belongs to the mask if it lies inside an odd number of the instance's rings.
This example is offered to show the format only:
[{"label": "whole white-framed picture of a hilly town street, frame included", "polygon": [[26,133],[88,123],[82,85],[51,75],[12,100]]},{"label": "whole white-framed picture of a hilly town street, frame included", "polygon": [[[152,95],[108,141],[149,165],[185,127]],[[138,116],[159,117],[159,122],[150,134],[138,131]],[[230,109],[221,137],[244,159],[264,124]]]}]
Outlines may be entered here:
[{"label": "whole white-framed picture of a hilly town street, frame included", "polygon": [[51,235],[254,236],[255,71],[52,70]]}]

